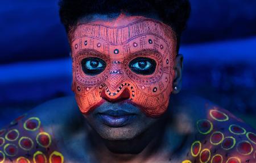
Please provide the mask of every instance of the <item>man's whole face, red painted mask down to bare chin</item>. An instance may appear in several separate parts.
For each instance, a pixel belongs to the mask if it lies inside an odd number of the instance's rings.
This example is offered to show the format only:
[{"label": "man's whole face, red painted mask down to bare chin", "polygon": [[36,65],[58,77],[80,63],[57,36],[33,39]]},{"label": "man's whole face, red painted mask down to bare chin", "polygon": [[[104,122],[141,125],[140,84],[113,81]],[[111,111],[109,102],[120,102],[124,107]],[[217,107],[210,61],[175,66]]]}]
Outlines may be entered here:
[{"label": "man's whole face, red painted mask down to bare chin", "polygon": [[137,136],[168,107],[176,37],[142,16],[81,23],[71,36],[77,104],[105,139]]}]

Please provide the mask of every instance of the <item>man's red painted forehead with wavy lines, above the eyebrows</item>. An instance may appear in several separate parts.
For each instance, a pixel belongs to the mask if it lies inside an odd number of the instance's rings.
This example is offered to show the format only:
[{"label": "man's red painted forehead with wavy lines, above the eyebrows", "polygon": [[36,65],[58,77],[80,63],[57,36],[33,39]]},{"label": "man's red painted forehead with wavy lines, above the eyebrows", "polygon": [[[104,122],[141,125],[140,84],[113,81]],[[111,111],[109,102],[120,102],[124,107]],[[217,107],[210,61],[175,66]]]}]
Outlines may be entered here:
[{"label": "man's red painted forehead with wavy lines, above the eyebrows", "polygon": [[93,49],[118,58],[144,49],[171,53],[176,48],[172,28],[155,19],[121,14],[115,19],[96,16],[85,22],[81,20],[72,32],[73,54]]}]

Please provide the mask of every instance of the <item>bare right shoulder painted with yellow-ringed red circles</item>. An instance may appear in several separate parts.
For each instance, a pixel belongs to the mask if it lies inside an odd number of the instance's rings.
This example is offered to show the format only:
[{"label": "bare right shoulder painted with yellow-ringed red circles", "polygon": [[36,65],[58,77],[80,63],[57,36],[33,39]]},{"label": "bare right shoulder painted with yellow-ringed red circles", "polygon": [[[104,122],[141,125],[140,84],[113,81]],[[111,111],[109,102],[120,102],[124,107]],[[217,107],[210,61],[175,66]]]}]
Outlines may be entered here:
[{"label": "bare right shoulder painted with yellow-ringed red circles", "polygon": [[228,110],[204,99],[195,116],[195,135],[188,162],[256,162],[256,131]]}]

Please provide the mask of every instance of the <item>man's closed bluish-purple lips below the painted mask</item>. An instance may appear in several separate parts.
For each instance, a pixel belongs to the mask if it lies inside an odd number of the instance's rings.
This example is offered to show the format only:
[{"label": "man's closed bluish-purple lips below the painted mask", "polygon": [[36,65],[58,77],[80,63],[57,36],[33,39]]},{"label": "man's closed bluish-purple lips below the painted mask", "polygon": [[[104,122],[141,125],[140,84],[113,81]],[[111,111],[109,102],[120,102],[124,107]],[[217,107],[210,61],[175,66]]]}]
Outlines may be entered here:
[{"label": "man's closed bluish-purple lips below the painted mask", "polygon": [[109,127],[123,127],[135,116],[135,114],[123,110],[107,110],[98,115],[102,122]]}]

